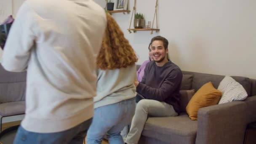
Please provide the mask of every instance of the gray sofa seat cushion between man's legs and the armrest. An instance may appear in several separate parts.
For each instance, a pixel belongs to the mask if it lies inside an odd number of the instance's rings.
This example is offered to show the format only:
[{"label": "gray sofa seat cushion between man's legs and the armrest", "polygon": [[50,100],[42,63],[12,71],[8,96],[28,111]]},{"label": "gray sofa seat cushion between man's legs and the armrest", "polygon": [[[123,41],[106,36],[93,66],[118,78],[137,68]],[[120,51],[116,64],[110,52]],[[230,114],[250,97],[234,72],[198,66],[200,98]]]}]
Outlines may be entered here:
[{"label": "gray sofa seat cushion between man's legs and the armrest", "polygon": [[141,135],[171,144],[192,144],[196,133],[197,121],[184,112],[177,117],[149,117]]}]

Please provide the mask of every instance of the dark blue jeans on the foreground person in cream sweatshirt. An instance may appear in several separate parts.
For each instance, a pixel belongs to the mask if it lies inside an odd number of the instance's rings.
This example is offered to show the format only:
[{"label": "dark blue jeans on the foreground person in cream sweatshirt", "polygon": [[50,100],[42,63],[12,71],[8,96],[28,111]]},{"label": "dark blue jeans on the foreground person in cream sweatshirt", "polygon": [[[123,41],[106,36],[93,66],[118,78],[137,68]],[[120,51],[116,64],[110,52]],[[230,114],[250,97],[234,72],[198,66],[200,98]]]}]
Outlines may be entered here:
[{"label": "dark blue jeans on the foreground person in cream sweatshirt", "polygon": [[83,144],[92,118],[67,131],[34,133],[19,127],[13,144]]}]

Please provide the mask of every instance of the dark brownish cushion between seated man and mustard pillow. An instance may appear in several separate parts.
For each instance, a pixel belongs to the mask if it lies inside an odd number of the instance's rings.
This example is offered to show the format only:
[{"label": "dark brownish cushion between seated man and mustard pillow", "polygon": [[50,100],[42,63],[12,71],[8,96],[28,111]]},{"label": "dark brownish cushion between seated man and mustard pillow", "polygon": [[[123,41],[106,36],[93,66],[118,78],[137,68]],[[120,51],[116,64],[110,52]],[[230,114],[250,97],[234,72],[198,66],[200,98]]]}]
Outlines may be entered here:
[{"label": "dark brownish cushion between seated man and mustard pillow", "polygon": [[180,110],[186,112],[187,104],[189,103],[192,96],[195,94],[195,90],[181,90],[180,94]]}]

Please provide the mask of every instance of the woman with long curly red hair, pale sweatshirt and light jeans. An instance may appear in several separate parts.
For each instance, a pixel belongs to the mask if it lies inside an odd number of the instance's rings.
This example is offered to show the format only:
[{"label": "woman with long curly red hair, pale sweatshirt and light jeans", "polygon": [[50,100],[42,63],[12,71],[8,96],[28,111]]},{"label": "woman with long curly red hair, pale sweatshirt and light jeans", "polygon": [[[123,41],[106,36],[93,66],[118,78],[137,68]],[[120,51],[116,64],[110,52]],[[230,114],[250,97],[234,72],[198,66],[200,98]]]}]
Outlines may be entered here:
[{"label": "woman with long curly red hair, pale sweatshirt and light jeans", "polygon": [[97,95],[93,122],[86,144],[123,144],[120,132],[131,123],[135,111],[137,56],[115,19],[107,14],[101,50],[97,57]]}]

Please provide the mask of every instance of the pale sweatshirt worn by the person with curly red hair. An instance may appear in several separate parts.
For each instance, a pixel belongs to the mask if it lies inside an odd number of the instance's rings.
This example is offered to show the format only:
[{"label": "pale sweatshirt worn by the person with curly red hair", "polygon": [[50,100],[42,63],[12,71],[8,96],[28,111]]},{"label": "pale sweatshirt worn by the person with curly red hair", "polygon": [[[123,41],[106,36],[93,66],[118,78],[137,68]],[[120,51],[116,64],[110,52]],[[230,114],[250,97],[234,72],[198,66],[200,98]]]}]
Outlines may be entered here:
[{"label": "pale sweatshirt worn by the person with curly red hair", "polygon": [[98,69],[97,75],[97,95],[94,97],[95,108],[115,104],[136,96],[134,85],[134,81],[137,79],[135,64],[121,69]]}]

